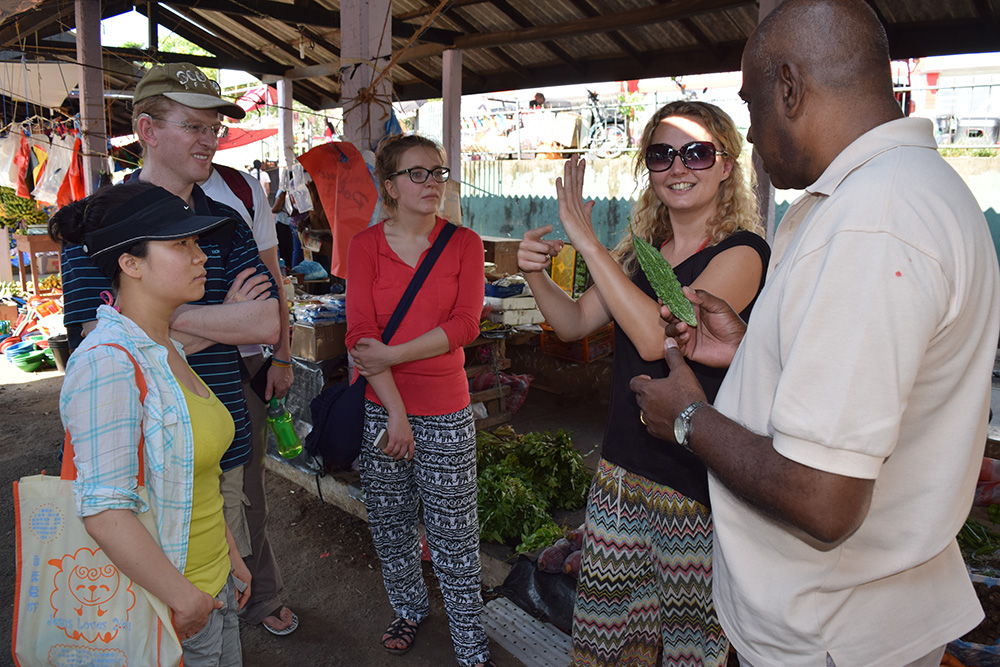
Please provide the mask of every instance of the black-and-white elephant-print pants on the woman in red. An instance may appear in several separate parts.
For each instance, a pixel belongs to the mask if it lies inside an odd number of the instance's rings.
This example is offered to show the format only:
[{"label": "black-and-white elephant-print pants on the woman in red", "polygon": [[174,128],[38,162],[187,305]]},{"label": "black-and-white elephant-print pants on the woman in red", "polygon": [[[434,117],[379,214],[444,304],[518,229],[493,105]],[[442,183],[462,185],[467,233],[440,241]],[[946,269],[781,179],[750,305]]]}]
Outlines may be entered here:
[{"label": "black-and-white elephant-print pants on the woman in red", "polygon": [[483,609],[476,512],[476,428],[469,408],[447,415],[409,416],[413,459],[396,460],[375,447],[385,408],[365,401],[361,484],[382,579],[397,616],[419,623],[430,612],[420,569],[419,507],[431,563],[444,598],[459,665],[490,658]]}]

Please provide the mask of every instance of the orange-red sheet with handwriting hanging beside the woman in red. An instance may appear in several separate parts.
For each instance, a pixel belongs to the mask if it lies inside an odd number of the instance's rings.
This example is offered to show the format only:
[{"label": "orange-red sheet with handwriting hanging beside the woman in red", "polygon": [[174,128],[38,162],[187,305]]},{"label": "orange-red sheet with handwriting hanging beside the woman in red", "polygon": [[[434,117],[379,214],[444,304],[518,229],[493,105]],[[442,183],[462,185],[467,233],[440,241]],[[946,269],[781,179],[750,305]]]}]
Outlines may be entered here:
[{"label": "orange-red sheet with handwriting hanging beside the woman in red", "polygon": [[347,248],[354,235],[368,227],[378,189],[354,144],[334,141],[299,156],[313,179],[327,222],[333,232],[330,273],[347,275]]}]

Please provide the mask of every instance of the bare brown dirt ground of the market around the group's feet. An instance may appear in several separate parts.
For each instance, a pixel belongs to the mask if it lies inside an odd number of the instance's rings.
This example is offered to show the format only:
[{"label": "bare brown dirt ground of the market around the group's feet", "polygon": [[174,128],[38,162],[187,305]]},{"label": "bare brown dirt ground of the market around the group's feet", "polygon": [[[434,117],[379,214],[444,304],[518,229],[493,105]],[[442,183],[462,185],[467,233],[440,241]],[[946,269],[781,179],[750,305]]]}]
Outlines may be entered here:
[{"label": "bare brown dirt ground of the market around the group's feet", "polygon": [[[0,493],[0,574],[5,582],[0,586],[0,627],[4,638],[11,632],[14,604],[11,482],[43,470],[58,473],[62,377],[58,371],[22,373],[0,360],[0,469],[7,471]],[[531,402],[529,398],[528,404]],[[533,420],[529,428],[544,424],[544,417],[537,411],[526,410],[525,414],[526,419]],[[599,424],[591,425],[588,435],[594,439],[599,431]],[[391,655],[378,641],[392,620],[392,610],[367,524],[277,475],[268,473],[267,483],[271,542],[282,567],[285,601],[299,615],[300,626],[287,637],[275,637],[259,626],[243,624],[241,637],[247,667],[456,664],[441,596],[427,564],[431,615],[421,625],[413,650],[404,656]],[[10,646],[10,642],[4,641],[3,645]],[[500,667],[521,664],[495,643],[491,642],[491,648]],[[0,653],[0,665],[11,663],[6,650]]]}]

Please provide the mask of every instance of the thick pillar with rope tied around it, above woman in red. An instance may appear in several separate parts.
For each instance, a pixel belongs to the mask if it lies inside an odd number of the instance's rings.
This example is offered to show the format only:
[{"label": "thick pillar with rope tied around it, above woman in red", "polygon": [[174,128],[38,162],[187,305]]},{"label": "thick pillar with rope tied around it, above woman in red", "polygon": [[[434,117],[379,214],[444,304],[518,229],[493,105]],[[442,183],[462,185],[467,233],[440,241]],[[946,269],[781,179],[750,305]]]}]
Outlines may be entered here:
[{"label": "thick pillar with rope tied around it, above woman in red", "polygon": [[375,150],[392,112],[389,76],[375,86],[373,99],[359,99],[388,65],[382,56],[392,57],[391,11],[391,0],[343,0],[340,4],[344,136],[359,149]]}]

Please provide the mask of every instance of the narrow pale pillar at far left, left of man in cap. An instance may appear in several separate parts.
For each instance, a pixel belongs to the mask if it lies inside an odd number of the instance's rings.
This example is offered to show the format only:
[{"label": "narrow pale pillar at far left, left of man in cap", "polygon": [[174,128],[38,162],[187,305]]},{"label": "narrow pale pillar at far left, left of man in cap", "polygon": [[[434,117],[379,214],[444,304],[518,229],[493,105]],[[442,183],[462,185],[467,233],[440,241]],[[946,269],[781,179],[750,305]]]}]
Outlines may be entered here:
[{"label": "narrow pale pillar at far left, left of man in cap", "polygon": [[75,0],[76,58],[80,65],[80,129],[83,183],[97,189],[107,169],[108,130],[104,123],[104,75],[101,56],[101,0]]}]

